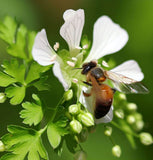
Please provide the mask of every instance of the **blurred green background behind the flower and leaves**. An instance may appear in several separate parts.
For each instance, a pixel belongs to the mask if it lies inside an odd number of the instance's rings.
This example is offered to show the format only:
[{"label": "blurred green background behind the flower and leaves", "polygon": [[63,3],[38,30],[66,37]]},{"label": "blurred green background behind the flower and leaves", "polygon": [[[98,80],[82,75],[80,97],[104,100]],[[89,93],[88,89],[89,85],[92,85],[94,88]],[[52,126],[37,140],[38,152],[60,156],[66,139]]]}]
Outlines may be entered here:
[{"label": "blurred green background behind the flower and leaves", "polygon": [[[92,40],[93,24],[101,15],[110,16],[129,33],[127,45],[118,53],[110,55],[117,64],[129,59],[138,61],[145,74],[143,83],[149,88],[148,95],[128,95],[128,101],[138,104],[138,111],[144,116],[144,131],[153,134],[153,0],[0,0],[0,21],[6,15],[15,17],[18,22],[24,23],[28,29],[47,30],[48,39],[53,46],[60,42],[60,47],[67,47],[59,35],[63,24],[62,14],[66,9],[85,10],[85,26],[83,33]],[[5,55],[4,43],[0,41],[0,62]],[[53,105],[57,103],[63,88],[54,78],[54,95],[50,96]],[[58,90],[58,92],[57,92]],[[52,98],[52,99],[51,99]],[[6,133],[7,124],[19,124],[21,119],[18,112],[20,106],[10,106],[8,102],[0,105],[0,136]],[[83,148],[88,154],[88,160],[115,160],[111,154],[112,144],[103,134],[103,127],[89,135]],[[137,140],[137,149],[133,150],[125,136],[118,129],[113,130],[113,139],[122,148],[122,160],[152,160],[153,146],[143,146]],[[50,159],[72,160],[72,154],[67,149],[61,158],[57,157],[49,144]]]}]

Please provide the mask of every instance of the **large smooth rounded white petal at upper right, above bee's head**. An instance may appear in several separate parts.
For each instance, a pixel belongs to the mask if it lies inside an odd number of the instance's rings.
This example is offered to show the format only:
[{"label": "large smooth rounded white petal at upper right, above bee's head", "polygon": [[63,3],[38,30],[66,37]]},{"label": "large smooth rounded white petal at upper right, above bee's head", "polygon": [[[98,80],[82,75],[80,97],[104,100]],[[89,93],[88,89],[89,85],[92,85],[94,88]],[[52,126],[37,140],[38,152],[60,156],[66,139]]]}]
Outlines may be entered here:
[{"label": "large smooth rounded white petal at upper right, above bee's head", "polygon": [[108,16],[102,16],[94,24],[93,45],[86,61],[117,52],[127,41],[126,30],[114,23]]}]

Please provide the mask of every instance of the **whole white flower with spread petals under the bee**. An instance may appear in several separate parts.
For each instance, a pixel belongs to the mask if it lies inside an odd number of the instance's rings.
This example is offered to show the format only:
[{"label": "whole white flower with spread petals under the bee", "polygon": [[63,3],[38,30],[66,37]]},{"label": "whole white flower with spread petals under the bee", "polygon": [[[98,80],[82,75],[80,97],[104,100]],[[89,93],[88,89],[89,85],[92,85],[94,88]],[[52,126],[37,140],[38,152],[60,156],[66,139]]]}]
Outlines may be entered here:
[{"label": "whole white flower with spread petals under the bee", "polygon": [[[62,83],[65,90],[68,90],[71,86],[71,82],[77,78],[75,77],[75,72],[68,74],[69,70],[72,70],[73,66],[77,62],[78,56],[80,56],[80,46],[81,34],[84,26],[84,10],[79,9],[74,11],[72,9],[66,10],[63,14],[64,24],[60,29],[60,35],[65,39],[69,46],[69,57],[73,62],[67,60],[65,62],[59,57],[48,43],[46,32],[44,29],[41,30],[36,36],[32,55],[34,60],[36,60],[40,65],[51,65],[53,66],[53,73]],[[128,41],[128,33],[126,30],[121,28],[118,24],[114,23],[108,16],[100,17],[94,24],[93,30],[93,44],[91,51],[89,52],[87,58],[82,61],[89,62],[93,59],[98,60],[99,58],[106,56],[108,54],[115,53],[122,49]],[[74,58],[76,60],[74,61]],[[71,64],[71,65],[70,65]],[[130,68],[130,69],[129,69]],[[65,70],[65,71],[64,71]],[[142,80],[143,73],[141,72],[138,64],[134,60],[127,61],[120,66],[114,68],[113,72],[120,72],[129,78],[134,78],[135,80]],[[133,74],[134,73],[134,74]],[[135,74],[136,73],[136,74]],[[85,89],[87,90],[87,88]],[[80,102],[89,109],[91,113],[92,96],[89,98],[84,97],[82,94],[80,96]],[[113,118],[113,107],[111,107],[108,114],[101,118],[95,119],[96,123],[107,123]]]}]

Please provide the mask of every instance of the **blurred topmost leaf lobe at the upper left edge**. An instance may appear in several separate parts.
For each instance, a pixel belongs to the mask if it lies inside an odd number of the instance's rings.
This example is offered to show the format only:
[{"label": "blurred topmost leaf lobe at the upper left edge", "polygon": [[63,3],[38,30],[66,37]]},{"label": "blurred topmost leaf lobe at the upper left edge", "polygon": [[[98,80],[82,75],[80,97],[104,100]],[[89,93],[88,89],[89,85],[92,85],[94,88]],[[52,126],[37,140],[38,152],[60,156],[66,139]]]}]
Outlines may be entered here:
[{"label": "blurred topmost leaf lobe at the upper left edge", "polygon": [[11,17],[5,17],[4,22],[0,23],[0,38],[9,44],[13,44],[17,24]]}]

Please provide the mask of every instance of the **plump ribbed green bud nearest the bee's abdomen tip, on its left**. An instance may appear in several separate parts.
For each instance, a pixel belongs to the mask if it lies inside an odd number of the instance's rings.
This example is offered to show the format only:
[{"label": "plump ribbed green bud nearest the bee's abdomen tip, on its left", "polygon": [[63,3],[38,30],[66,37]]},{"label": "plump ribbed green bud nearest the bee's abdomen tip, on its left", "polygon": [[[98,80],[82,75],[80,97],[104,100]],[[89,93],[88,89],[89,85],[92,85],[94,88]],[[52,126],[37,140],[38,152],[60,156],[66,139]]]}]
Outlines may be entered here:
[{"label": "plump ribbed green bud nearest the bee's abdomen tip, on its left", "polygon": [[78,120],[82,122],[85,126],[90,127],[94,125],[94,118],[91,113],[80,113],[78,115]]}]

